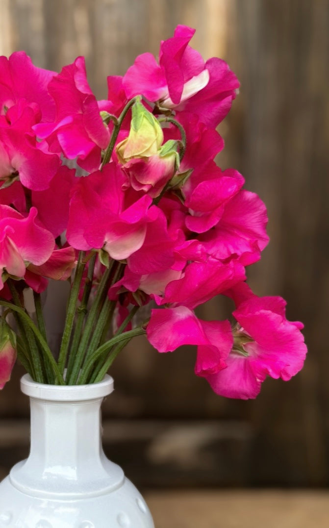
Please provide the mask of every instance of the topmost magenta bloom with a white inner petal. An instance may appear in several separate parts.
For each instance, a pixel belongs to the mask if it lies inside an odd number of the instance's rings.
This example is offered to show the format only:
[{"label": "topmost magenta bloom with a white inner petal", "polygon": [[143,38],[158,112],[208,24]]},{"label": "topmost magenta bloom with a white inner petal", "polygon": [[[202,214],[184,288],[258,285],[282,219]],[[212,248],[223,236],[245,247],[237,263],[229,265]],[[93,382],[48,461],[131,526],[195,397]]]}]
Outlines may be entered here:
[{"label": "topmost magenta bloom with a white inner petal", "polygon": [[128,99],[143,94],[160,107],[198,114],[215,128],[228,113],[239,81],[220,59],[204,63],[189,46],[195,30],[178,25],[161,43],[159,64],[151,53],[139,55],[123,78]]}]

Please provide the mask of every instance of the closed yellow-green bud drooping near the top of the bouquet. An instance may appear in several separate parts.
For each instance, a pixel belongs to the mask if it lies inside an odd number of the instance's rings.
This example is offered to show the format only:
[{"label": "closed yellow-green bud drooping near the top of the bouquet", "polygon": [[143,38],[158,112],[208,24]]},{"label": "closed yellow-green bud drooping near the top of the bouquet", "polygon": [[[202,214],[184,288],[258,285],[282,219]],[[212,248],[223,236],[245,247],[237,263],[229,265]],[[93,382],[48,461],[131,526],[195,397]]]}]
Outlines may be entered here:
[{"label": "closed yellow-green bud drooping near the top of the bouquet", "polygon": [[129,136],[117,147],[120,163],[132,158],[150,157],[157,154],[163,143],[163,131],[159,122],[141,102],[136,101],[132,108]]}]

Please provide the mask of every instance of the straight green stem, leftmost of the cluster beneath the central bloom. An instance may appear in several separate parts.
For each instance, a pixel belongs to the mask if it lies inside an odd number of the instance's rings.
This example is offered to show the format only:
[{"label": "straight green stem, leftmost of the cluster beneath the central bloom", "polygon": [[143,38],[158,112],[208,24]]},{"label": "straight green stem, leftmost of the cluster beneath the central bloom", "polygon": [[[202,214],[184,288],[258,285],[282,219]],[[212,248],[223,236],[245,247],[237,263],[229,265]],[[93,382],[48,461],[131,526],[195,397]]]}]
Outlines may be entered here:
[{"label": "straight green stem, leftmost of the cluster beneath the central bloom", "polygon": [[76,307],[77,307],[77,302],[78,302],[78,297],[79,297],[80,282],[82,279],[82,274],[83,274],[83,270],[85,266],[83,262],[84,255],[85,255],[85,252],[80,251],[76,273],[74,275],[73,285],[72,285],[70,297],[69,297],[69,305],[67,309],[67,316],[65,320],[65,327],[64,327],[62,343],[61,343],[59,359],[58,359],[58,367],[59,367],[59,371],[61,374],[63,374],[64,372],[65,363],[66,363],[66,359],[67,359],[67,355],[69,351],[70,338],[71,338],[72,329],[73,329],[74,316],[76,315]]}]

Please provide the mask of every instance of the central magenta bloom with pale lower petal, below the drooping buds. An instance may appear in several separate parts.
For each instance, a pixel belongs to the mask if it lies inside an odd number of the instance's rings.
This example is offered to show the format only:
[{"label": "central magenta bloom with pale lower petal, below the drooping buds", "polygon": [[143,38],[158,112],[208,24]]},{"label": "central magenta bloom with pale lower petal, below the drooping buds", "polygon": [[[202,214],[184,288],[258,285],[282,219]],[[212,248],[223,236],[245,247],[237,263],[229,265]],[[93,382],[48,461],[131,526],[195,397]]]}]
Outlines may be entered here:
[{"label": "central magenta bloom with pale lower petal, below the drooping buds", "polygon": [[152,199],[123,186],[126,176],[115,163],[78,179],[70,203],[67,239],[79,250],[100,249],[123,260],[144,243],[147,223],[157,218]]}]

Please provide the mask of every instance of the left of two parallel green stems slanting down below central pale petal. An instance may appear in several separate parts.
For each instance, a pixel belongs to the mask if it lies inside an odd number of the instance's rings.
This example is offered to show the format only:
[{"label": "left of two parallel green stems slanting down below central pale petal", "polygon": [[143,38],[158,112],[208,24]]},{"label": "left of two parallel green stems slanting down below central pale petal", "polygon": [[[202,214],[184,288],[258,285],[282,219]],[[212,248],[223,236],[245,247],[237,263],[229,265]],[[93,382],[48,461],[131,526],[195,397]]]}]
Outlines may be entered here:
[{"label": "left of two parallel green stems slanting down below central pale petal", "polygon": [[[113,264],[112,264],[113,266]],[[83,362],[84,354],[87,351],[87,345],[90,339],[90,334],[92,327],[95,324],[97,314],[99,312],[100,306],[104,302],[105,296],[107,295],[108,281],[110,279],[112,267],[107,268],[104,272],[104,275],[101,278],[99,287],[97,289],[97,294],[91,305],[90,312],[88,314],[86,325],[84,326],[84,331],[78,346],[76,357],[74,357],[74,364],[72,368],[71,375],[67,376],[67,384],[75,385],[79,376],[80,368]]]}]

